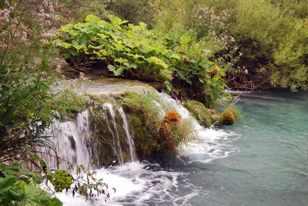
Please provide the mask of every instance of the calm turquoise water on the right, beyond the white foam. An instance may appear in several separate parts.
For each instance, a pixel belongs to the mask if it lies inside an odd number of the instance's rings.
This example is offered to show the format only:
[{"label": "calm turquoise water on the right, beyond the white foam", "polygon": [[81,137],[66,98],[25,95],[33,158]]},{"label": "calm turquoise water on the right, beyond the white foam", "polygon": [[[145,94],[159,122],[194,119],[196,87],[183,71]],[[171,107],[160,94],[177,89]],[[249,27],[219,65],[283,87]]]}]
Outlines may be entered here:
[{"label": "calm turquoise water on the right, beyond the white foam", "polygon": [[308,92],[245,93],[237,104],[245,120],[223,127],[234,135],[220,140],[233,152],[177,167],[204,191],[188,203],[308,205]]}]

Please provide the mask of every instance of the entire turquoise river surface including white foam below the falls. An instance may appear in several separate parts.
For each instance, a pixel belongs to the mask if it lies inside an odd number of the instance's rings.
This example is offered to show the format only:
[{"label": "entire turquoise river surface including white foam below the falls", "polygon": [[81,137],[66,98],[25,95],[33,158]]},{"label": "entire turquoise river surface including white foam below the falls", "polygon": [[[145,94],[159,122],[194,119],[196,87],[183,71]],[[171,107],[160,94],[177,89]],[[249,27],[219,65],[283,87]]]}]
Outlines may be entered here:
[{"label": "entire turquoise river surface including white foam below the falls", "polygon": [[64,205],[308,205],[308,92],[246,92],[237,105],[244,121],[204,130],[186,158],[98,170],[117,188],[107,202],[58,197]]}]

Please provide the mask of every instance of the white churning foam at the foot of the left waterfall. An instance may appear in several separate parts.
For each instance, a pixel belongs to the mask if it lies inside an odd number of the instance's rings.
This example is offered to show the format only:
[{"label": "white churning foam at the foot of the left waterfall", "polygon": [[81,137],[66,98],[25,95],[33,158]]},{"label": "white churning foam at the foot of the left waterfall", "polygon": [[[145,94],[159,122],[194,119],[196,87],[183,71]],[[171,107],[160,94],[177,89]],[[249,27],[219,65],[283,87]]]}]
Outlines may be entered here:
[{"label": "white churning foam at the foot of the left waterfall", "polygon": [[[64,205],[189,205],[187,201],[201,194],[200,188],[186,183],[185,173],[162,170],[159,164],[131,162],[122,166],[103,168],[97,171],[96,178],[103,178],[109,188],[117,189],[115,193],[109,190],[110,200],[99,196],[98,201],[80,195],[57,195]],[[179,178],[181,182],[179,182]],[[185,194],[179,190],[185,188]]]}]

